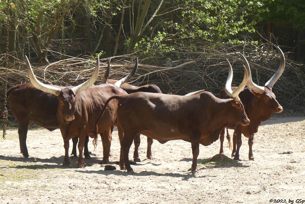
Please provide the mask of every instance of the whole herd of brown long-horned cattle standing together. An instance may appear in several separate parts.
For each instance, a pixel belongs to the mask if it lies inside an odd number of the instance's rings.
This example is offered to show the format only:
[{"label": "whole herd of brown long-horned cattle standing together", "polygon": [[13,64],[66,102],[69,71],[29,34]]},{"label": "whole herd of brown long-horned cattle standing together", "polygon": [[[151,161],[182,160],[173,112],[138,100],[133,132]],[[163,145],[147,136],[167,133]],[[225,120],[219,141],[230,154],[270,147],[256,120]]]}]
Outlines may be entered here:
[{"label": "whole herd of brown long-horned cattle standing together", "polygon": [[[233,70],[228,63],[228,78],[219,98],[212,93],[199,90],[185,96],[164,94],[154,84],[133,86],[126,82],[135,74],[135,67],[129,75],[120,79],[108,79],[110,62],[104,78],[94,85],[99,75],[99,57],[91,78],[78,86],[54,86],[39,82],[30,62],[27,60],[29,83],[18,84],[7,92],[9,107],[19,123],[20,151],[29,157],[27,150],[27,130],[35,123],[50,131],[60,129],[65,149],[63,165],[69,166],[69,140],[73,141],[72,156],[77,157],[78,166],[84,167],[84,158],[90,159],[89,137],[97,145],[98,134],[102,139],[102,163],[109,162],[113,127],[117,126],[121,144],[120,169],[132,171],[128,158],[134,141],[134,161],[140,162],[138,148],[140,134],[147,137],[147,158],[153,160],[153,139],[161,144],[170,140],[185,140],[191,143],[193,160],[189,169],[198,173],[197,157],[199,144],[210,145],[218,138],[221,141],[220,154],[224,154],[223,142],[225,128],[231,145],[228,129],[234,129],[232,157],[239,160],[242,134],[248,138],[249,160],[254,160],[252,151],[254,134],[262,121],[271,118],[273,113],[283,111],[276,100],[272,87],[285,68],[285,56],[281,56],[278,70],[266,82],[258,86],[251,77],[246,57],[244,78],[238,87],[231,86]],[[78,144],[77,144],[78,143]]]}]

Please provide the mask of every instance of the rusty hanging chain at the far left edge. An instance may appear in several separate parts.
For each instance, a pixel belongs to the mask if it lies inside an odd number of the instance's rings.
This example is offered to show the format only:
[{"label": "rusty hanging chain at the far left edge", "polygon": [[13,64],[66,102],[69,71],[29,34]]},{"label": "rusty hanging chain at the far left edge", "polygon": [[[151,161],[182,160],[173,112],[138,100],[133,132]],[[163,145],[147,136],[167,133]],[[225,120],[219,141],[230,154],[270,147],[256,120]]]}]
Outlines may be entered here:
[{"label": "rusty hanging chain at the far left edge", "polygon": [[6,109],[6,101],[7,101],[7,68],[9,67],[9,0],[7,0],[7,27],[6,27],[6,68],[5,68],[5,93],[4,93],[4,107],[3,107],[3,136],[2,138],[5,140],[6,135],[6,125],[7,125],[7,109]]}]

